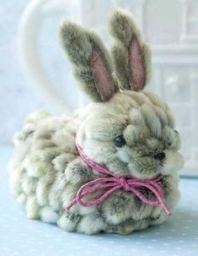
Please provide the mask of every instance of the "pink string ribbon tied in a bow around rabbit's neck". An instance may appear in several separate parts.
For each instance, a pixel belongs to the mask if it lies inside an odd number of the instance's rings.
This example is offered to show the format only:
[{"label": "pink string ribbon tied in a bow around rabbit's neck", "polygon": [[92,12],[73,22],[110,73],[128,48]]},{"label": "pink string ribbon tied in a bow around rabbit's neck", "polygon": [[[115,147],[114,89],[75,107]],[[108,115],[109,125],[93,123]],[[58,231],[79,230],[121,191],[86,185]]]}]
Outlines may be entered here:
[{"label": "pink string ribbon tied in a bow around rabbit's neck", "polygon": [[[88,155],[85,155],[83,149],[78,144],[76,144],[76,146],[82,160],[92,169],[105,174],[106,177],[97,177],[93,181],[85,183],[81,188],[79,188],[75,199],[73,199],[70,204],[64,205],[66,210],[70,210],[74,204],[80,204],[85,207],[99,205],[116,190],[124,189],[127,192],[134,193],[136,197],[143,203],[150,206],[161,205],[162,209],[167,215],[171,214],[169,207],[164,202],[163,189],[159,184],[162,180],[162,175],[158,175],[157,177],[153,177],[151,179],[122,176],[117,177],[114,173],[104,168],[104,166],[100,166],[98,163],[90,159]],[[147,188],[148,190],[152,191],[156,199],[147,199],[145,195],[140,192],[139,188]],[[91,199],[88,202],[83,201],[86,196],[98,192],[99,195],[97,195],[94,199]]]}]

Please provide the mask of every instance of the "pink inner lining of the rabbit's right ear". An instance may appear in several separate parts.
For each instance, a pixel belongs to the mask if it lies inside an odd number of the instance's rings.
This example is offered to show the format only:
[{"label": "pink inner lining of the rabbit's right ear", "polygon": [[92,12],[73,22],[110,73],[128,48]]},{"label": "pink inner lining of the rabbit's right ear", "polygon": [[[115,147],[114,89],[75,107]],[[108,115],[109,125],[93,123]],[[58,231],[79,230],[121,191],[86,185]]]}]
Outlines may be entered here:
[{"label": "pink inner lining of the rabbit's right ear", "polygon": [[130,52],[131,90],[142,90],[146,82],[146,68],[142,49],[136,35],[133,35]]}]

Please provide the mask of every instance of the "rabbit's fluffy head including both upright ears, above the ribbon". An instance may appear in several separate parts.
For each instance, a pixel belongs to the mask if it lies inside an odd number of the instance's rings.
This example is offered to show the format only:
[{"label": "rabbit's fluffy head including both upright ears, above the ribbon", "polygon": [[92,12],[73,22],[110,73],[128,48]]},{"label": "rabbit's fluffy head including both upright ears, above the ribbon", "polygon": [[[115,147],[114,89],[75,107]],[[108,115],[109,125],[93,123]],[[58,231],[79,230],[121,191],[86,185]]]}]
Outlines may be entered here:
[{"label": "rabbit's fluffy head including both upright ears, above the ribbon", "polygon": [[149,47],[130,14],[120,9],[110,18],[110,33],[113,59],[98,35],[62,23],[62,46],[94,100],[83,109],[78,144],[117,175],[149,178],[175,172],[183,157],[174,116],[158,95],[143,90],[150,76]]}]

